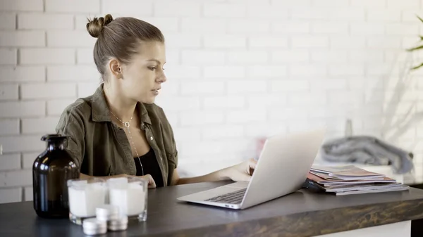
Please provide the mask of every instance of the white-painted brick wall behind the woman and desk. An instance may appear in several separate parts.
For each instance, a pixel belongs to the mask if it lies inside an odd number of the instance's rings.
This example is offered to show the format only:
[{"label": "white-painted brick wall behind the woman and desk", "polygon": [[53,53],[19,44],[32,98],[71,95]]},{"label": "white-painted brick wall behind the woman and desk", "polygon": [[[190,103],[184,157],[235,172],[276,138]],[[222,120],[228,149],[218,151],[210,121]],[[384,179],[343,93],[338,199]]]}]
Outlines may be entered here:
[{"label": "white-painted brick wall behind the woman and desk", "polygon": [[[423,54],[405,51],[423,33],[415,17],[420,0],[0,0],[0,6],[0,203],[32,200],[40,137],[54,132],[67,105],[97,89],[95,39],[85,25],[106,13],[146,20],[165,34],[168,81],[157,103],[173,125],[185,174],[251,157],[258,136],[321,124],[329,137],[342,136],[348,118],[355,134],[384,134],[422,151],[423,70],[407,68]],[[411,122],[393,126],[391,117]]]}]

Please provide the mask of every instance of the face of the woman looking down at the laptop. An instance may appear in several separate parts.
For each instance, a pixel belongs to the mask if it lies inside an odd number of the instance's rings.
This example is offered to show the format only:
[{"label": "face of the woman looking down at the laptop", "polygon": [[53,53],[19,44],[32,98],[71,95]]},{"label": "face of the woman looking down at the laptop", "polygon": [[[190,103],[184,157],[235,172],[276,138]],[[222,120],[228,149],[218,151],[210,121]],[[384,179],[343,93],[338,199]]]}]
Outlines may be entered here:
[{"label": "face of the woman looking down at the laptop", "polygon": [[154,103],[166,82],[164,64],[165,46],[159,41],[142,42],[131,62],[121,67],[120,87],[125,96],[141,103]]}]

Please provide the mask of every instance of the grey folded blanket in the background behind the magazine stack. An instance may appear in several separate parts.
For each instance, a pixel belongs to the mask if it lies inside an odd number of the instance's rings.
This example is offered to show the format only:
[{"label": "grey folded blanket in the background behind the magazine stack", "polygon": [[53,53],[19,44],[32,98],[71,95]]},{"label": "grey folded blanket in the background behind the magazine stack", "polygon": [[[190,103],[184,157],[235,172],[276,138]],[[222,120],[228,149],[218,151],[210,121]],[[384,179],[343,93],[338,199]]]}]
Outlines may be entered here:
[{"label": "grey folded blanket in the background behind the magazine stack", "polygon": [[394,172],[405,174],[413,168],[413,154],[372,136],[349,136],[324,143],[321,158],[331,162],[357,162],[392,165]]}]

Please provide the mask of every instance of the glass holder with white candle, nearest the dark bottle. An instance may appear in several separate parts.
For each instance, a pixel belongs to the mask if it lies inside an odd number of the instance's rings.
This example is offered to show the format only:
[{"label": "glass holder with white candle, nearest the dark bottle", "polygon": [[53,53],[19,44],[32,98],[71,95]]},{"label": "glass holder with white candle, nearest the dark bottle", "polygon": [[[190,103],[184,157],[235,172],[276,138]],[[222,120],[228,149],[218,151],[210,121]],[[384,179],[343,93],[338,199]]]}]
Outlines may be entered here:
[{"label": "glass holder with white candle, nearest the dark bottle", "polygon": [[87,218],[96,216],[96,208],[106,204],[106,181],[90,177],[68,180],[69,219],[82,224]]}]

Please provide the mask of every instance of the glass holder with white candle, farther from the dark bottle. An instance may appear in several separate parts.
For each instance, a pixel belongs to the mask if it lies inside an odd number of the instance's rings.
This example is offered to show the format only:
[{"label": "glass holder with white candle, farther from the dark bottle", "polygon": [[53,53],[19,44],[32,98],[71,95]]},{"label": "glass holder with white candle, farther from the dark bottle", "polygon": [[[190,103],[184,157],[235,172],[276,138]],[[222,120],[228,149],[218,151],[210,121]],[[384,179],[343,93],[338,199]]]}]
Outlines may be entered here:
[{"label": "glass holder with white candle, farther from the dark bottle", "polygon": [[130,219],[147,221],[148,181],[141,177],[114,178],[107,181],[109,203],[119,207]]}]

